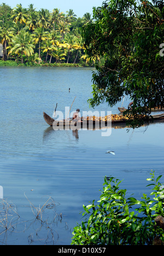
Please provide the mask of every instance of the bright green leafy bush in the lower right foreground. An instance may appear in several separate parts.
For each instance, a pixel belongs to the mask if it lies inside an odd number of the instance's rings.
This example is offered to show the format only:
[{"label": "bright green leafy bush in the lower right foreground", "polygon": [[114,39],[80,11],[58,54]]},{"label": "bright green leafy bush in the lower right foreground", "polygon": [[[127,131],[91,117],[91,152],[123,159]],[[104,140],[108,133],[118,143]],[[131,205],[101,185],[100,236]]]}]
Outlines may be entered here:
[{"label": "bright green leafy bush in the lower right foreground", "polygon": [[119,188],[121,181],[106,177],[99,204],[93,200],[83,206],[83,218],[87,218],[75,226],[72,245],[153,245],[157,236],[164,241],[163,229],[155,225],[155,218],[163,216],[161,176],[155,179],[154,172],[150,174],[152,192],[141,200],[126,199],[126,190]]}]

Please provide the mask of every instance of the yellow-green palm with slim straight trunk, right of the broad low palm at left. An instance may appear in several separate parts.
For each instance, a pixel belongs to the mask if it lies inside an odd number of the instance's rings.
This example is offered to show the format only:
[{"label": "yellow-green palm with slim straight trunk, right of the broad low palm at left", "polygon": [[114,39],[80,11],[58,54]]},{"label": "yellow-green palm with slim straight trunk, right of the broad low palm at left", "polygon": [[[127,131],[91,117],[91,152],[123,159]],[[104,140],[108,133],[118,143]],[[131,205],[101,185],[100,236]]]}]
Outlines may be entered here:
[{"label": "yellow-green palm with slim straight trunk, right of the broad low palm at left", "polygon": [[33,38],[34,38],[34,42],[37,44],[39,44],[39,63],[41,60],[40,57],[40,44],[42,43],[42,41],[46,40],[49,38],[49,32],[48,31],[44,31],[43,27],[37,27],[34,29],[34,32],[32,34]]}]

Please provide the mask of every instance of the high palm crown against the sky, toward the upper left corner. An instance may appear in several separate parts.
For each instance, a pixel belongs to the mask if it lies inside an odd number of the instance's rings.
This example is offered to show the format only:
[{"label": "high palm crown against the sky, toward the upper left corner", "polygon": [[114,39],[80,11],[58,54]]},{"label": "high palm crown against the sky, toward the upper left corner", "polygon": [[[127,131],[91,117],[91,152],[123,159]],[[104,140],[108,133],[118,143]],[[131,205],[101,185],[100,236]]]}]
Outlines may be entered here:
[{"label": "high palm crown against the sky, toward the upper left corner", "polygon": [[27,9],[22,8],[21,4],[17,4],[16,8],[13,9],[13,15],[11,18],[14,18],[14,22],[20,22],[20,24],[26,24],[27,20]]}]

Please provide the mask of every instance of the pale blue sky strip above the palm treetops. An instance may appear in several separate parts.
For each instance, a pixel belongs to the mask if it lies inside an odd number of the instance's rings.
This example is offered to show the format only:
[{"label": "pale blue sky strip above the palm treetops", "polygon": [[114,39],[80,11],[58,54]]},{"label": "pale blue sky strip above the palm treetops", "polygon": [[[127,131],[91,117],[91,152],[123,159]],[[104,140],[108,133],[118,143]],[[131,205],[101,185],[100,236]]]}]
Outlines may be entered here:
[{"label": "pale blue sky strip above the palm treetops", "polygon": [[55,8],[60,9],[63,13],[73,9],[77,17],[82,18],[85,13],[92,14],[92,7],[102,6],[104,0],[0,0],[0,4],[8,4],[11,8],[16,7],[16,4],[22,4],[24,8],[28,8],[29,4],[33,4],[36,10],[41,8],[52,11]]}]

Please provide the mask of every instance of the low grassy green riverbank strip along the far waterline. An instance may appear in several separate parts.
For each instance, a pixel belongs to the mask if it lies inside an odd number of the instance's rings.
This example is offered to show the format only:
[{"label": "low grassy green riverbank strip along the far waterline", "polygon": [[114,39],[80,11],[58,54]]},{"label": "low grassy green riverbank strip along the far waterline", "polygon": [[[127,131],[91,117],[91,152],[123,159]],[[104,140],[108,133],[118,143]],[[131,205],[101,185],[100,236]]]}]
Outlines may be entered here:
[{"label": "low grassy green riverbank strip along the far waterline", "polygon": [[0,60],[0,67],[93,67],[91,65],[88,65],[87,63],[83,63],[81,65],[80,63],[32,63],[32,62],[25,62],[25,63],[17,63],[15,61],[2,61]]}]

